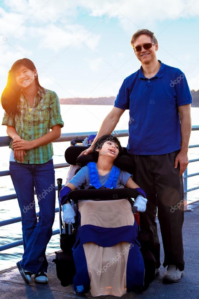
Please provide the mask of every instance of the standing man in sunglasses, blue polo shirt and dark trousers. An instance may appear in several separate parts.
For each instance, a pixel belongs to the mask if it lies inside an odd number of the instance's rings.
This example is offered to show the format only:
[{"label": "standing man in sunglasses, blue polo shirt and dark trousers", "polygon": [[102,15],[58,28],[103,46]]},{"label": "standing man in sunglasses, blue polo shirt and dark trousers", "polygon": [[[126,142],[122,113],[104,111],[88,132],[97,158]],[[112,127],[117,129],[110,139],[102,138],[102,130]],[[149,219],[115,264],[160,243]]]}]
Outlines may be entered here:
[{"label": "standing man in sunglasses, blue polo shirt and dark trousers", "polygon": [[135,163],[133,179],[146,190],[148,199],[146,211],[140,213],[141,237],[148,240],[145,244],[155,257],[155,274],[159,275],[160,242],[155,220],[158,207],[163,266],[168,266],[163,282],[175,283],[184,269],[182,174],[188,165],[192,97],[183,72],[157,59],[158,41],[153,32],[138,30],[131,45],[141,68],[124,80],[112,111],[84,154],[92,151],[99,137],[111,133],[129,109],[127,150]]}]

